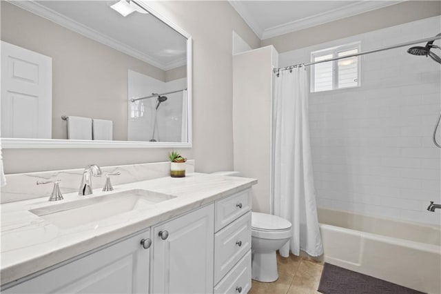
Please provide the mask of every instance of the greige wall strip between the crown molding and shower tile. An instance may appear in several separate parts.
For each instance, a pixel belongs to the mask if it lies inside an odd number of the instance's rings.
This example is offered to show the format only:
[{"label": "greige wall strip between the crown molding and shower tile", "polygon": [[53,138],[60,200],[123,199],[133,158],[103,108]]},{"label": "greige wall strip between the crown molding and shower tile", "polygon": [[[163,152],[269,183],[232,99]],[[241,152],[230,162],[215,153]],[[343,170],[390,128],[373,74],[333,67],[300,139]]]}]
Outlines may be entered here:
[{"label": "greige wall strip between the crown molding and shower tile", "polygon": [[440,14],[441,1],[405,1],[320,26],[264,39],[260,41],[260,46],[273,45],[279,53],[283,53]]}]

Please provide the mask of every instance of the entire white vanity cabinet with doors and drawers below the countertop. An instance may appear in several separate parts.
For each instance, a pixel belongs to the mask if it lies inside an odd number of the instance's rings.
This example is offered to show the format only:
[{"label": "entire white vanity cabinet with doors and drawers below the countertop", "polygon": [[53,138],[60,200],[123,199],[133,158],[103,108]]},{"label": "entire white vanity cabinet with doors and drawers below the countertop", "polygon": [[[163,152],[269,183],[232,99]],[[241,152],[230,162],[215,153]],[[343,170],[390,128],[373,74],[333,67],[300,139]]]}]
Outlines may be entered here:
[{"label": "entire white vanity cabinet with doors and drawers below the countertop", "polygon": [[250,189],[243,190],[7,284],[2,292],[247,293],[251,206]]}]

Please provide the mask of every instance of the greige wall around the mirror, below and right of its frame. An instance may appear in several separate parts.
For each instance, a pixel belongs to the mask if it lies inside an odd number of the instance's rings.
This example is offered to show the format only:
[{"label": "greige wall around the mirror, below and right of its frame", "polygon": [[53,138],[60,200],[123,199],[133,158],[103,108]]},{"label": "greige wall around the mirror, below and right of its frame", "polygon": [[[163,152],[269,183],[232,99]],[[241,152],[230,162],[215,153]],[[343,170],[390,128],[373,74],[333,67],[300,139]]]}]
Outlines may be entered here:
[{"label": "greige wall around the mirror, below and right of its frame", "polygon": [[[233,168],[232,31],[252,48],[260,40],[227,1],[157,1],[151,6],[192,35],[193,148],[201,172]],[[170,148],[3,149],[6,173],[165,161]]]}]

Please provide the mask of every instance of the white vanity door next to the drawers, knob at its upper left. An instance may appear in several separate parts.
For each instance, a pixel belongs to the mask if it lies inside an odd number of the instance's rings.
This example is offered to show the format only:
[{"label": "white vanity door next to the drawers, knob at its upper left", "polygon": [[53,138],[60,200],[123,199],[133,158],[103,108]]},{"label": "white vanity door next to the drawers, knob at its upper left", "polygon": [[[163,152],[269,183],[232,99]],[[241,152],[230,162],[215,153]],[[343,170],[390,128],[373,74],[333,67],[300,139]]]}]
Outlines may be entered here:
[{"label": "white vanity door next to the drawers, knob at its upper left", "polygon": [[213,293],[213,235],[214,204],[155,226],[151,292]]}]

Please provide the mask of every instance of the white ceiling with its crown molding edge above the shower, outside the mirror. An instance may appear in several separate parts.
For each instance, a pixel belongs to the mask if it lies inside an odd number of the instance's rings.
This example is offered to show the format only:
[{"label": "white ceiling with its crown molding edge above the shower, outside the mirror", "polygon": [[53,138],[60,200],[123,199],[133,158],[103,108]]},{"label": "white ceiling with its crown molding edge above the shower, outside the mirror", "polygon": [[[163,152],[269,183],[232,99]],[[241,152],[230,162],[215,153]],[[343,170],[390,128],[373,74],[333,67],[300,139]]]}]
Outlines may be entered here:
[{"label": "white ceiling with its crown molding edge above the shower, outside the mirror", "polygon": [[376,10],[402,1],[232,1],[260,39]]}]

